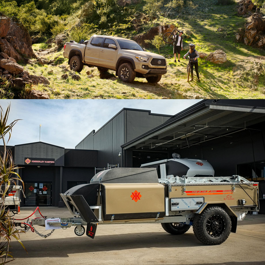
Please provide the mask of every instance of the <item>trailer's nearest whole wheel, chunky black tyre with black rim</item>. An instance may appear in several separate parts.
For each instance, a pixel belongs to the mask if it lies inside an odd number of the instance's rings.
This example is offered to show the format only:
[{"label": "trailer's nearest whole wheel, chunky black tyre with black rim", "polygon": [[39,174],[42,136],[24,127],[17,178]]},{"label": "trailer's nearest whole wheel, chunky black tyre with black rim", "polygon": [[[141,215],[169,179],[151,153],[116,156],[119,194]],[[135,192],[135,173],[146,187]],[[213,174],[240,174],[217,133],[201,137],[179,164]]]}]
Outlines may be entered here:
[{"label": "trailer's nearest whole wheel, chunky black tyre with black rim", "polygon": [[206,245],[220,245],[230,235],[231,218],[219,206],[210,206],[193,219],[193,232],[199,241]]}]

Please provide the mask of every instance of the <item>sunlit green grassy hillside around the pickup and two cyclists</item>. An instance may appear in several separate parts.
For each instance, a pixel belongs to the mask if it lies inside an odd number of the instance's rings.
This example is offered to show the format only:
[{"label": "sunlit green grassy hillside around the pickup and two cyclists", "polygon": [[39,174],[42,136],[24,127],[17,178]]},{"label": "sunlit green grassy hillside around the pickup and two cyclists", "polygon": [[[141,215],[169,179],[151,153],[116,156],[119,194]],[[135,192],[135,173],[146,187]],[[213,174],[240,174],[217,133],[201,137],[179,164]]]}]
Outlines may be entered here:
[{"label": "sunlit green grassy hillside around the pickup and two cyclists", "polygon": [[[62,58],[62,51],[48,55],[39,54],[43,58],[57,58],[56,66],[33,64],[25,65],[25,69],[29,73],[43,75],[49,79],[49,87],[38,86],[37,89],[47,91],[51,98],[265,98],[265,57],[260,57],[265,55],[265,50],[236,43],[235,33],[246,23],[245,18],[236,15],[236,3],[220,6],[213,2],[197,0],[198,7],[192,16],[190,16],[188,8],[185,7],[177,20],[175,20],[174,12],[166,19],[166,24],[176,24],[176,21],[179,21],[181,23],[179,28],[184,31],[184,35],[187,30],[191,31],[191,37],[185,38],[183,41],[184,47],[193,42],[199,52],[209,54],[218,49],[226,52],[227,62],[223,65],[216,65],[204,59],[198,60],[201,83],[186,82],[187,61],[181,59],[180,63],[174,63],[172,45],[160,49],[160,53],[167,58],[168,72],[156,85],[150,85],[142,78],[136,78],[132,84],[125,84],[114,75],[113,71],[109,71],[107,79],[102,79],[96,68],[86,66],[80,74],[80,81],[74,81],[71,78],[62,80],[63,71],[58,66],[65,65],[69,69],[68,59]],[[134,11],[142,11],[143,5],[144,1],[130,8],[134,8]],[[74,15],[71,16],[74,17]],[[129,18],[132,19],[134,16],[130,15]],[[69,20],[69,17],[67,20],[72,27],[73,20]],[[159,25],[161,21],[162,16],[157,17],[153,22],[154,25]],[[128,38],[137,34],[128,24],[115,25],[115,27],[110,25],[100,30],[99,33]],[[218,28],[223,30],[218,32]],[[98,31],[98,29],[96,30]],[[147,27],[144,26],[142,32],[146,30]],[[38,51],[40,47],[45,48],[45,43],[33,45],[35,51]],[[152,47],[148,51],[158,53]],[[186,51],[181,51],[181,58],[185,53]],[[61,60],[58,60],[58,56]],[[50,70],[53,70],[53,73],[48,74]],[[94,77],[89,78],[86,74],[87,71]],[[194,80],[196,79],[194,78]]]}]

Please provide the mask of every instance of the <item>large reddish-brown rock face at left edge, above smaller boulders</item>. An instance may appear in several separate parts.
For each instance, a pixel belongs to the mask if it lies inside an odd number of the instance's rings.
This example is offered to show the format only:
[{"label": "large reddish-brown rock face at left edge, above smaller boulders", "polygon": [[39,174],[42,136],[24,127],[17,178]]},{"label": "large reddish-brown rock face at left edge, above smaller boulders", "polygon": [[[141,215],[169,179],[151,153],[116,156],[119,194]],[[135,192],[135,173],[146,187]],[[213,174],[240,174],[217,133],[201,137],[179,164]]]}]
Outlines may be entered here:
[{"label": "large reddish-brown rock face at left edge, above smaller boulders", "polygon": [[22,59],[21,55],[36,57],[28,30],[15,17],[0,17],[0,37],[0,51],[9,57],[17,61]]}]

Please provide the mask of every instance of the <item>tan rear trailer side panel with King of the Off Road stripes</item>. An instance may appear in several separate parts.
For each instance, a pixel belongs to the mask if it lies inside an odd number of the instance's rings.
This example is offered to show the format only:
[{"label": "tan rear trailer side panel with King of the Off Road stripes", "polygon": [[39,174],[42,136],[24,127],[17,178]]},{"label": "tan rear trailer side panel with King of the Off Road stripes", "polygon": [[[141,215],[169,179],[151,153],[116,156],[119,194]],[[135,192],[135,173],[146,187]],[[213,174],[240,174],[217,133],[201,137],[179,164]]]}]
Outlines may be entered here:
[{"label": "tan rear trailer side panel with King of the Off Road stripes", "polygon": [[[204,197],[204,202],[225,202],[229,207],[238,206],[238,200],[245,199],[247,205],[258,204],[257,186],[246,184],[235,184],[235,191],[232,191],[233,184],[211,184],[191,185],[186,184],[184,192],[184,184],[172,185],[172,191],[169,193],[170,198],[187,198],[187,197]],[[242,188],[241,188],[242,187]],[[247,193],[247,194],[246,194]],[[254,198],[253,201],[251,198]]]}]

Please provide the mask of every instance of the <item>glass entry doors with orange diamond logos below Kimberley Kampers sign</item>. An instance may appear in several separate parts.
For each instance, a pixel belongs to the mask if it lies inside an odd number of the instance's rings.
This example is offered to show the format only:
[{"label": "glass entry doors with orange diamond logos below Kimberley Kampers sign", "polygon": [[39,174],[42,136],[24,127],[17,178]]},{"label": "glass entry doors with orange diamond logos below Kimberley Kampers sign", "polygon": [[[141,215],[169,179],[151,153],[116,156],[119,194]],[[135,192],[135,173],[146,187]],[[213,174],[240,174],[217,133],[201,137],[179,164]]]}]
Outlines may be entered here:
[{"label": "glass entry doors with orange diamond logos below Kimberley Kampers sign", "polygon": [[25,182],[24,206],[51,206],[51,182]]}]

